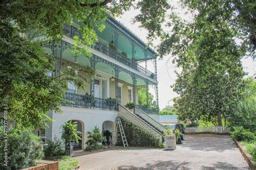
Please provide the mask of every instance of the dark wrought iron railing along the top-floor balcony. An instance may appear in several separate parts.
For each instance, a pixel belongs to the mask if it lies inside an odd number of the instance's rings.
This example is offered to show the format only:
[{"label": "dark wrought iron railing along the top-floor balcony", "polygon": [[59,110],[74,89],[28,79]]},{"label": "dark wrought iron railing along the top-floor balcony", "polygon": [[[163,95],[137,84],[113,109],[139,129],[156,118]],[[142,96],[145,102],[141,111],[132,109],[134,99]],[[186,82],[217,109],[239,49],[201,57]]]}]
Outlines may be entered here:
[{"label": "dark wrought iron railing along the top-floor balcony", "polygon": [[[82,39],[82,34],[79,32],[79,30],[76,27],[73,27],[71,25],[64,26],[64,34],[70,38],[73,38],[74,36],[78,36],[80,39]],[[149,76],[152,79],[156,79],[156,74],[140,66],[137,62],[133,62],[131,59],[127,58],[127,56],[123,56],[119,52],[116,53],[114,49],[111,49],[105,46],[104,44],[101,44],[100,42],[97,42],[96,45],[93,46],[93,48],[99,52],[102,52],[103,54],[110,56],[113,59],[116,59],[117,61],[123,63],[126,66],[129,66],[131,68],[138,70],[140,73],[146,76]]]}]

